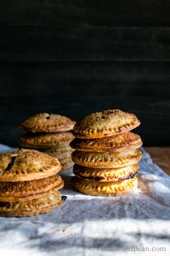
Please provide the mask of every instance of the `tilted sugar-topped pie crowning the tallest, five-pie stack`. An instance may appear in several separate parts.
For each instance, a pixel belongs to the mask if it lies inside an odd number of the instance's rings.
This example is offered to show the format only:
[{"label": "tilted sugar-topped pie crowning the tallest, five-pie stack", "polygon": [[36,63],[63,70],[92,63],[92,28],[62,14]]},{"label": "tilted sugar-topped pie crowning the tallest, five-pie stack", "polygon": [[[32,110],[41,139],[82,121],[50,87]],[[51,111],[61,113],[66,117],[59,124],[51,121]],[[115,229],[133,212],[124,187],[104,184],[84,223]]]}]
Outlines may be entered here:
[{"label": "tilted sugar-topped pie crowning the tallest, five-pie stack", "polygon": [[73,135],[82,139],[102,138],[131,131],[140,124],[134,114],[121,110],[93,113],[74,126]]}]

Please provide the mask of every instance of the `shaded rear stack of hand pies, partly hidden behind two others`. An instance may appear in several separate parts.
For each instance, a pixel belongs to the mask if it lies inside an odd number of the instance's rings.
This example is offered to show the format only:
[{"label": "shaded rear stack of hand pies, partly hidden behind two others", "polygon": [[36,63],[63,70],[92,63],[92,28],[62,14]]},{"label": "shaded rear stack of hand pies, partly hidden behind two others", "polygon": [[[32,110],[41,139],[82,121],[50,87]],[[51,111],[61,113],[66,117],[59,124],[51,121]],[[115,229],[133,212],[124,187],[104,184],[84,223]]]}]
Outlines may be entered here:
[{"label": "shaded rear stack of hand pies, partly hidden behind two others", "polygon": [[57,157],[62,164],[61,170],[67,170],[73,166],[69,143],[74,136],[68,131],[74,124],[75,121],[60,115],[42,113],[32,116],[19,126],[27,131],[20,139],[20,148],[35,149]]}]

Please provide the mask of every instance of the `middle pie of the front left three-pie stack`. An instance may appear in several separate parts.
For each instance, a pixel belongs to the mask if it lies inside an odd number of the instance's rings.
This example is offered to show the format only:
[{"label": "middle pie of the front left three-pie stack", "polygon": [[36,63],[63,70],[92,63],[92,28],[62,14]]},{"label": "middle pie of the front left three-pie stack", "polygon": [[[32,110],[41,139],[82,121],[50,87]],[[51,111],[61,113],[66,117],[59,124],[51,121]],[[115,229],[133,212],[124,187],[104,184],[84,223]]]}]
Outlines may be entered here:
[{"label": "middle pie of the front left three-pie stack", "polygon": [[28,201],[51,194],[62,188],[63,180],[57,174],[31,181],[0,182],[0,201],[16,202]]}]

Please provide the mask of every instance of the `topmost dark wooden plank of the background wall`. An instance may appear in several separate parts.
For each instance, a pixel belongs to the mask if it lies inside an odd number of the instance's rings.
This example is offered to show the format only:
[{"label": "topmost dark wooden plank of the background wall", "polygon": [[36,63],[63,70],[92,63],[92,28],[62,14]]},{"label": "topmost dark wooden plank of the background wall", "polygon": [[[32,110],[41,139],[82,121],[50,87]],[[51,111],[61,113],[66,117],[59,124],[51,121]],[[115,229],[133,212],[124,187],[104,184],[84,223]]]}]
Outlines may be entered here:
[{"label": "topmost dark wooden plank of the background wall", "polygon": [[2,25],[169,26],[169,1],[163,0],[6,0]]}]

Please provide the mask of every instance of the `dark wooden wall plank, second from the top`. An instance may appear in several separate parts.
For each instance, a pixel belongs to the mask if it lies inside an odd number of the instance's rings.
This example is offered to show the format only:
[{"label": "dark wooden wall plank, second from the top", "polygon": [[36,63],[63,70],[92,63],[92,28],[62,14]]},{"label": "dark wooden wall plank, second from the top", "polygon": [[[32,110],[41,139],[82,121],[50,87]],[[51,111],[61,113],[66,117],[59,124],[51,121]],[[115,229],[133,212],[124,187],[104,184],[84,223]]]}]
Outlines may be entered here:
[{"label": "dark wooden wall plank, second from the top", "polygon": [[0,27],[0,61],[169,61],[170,28]]}]

